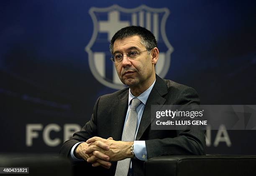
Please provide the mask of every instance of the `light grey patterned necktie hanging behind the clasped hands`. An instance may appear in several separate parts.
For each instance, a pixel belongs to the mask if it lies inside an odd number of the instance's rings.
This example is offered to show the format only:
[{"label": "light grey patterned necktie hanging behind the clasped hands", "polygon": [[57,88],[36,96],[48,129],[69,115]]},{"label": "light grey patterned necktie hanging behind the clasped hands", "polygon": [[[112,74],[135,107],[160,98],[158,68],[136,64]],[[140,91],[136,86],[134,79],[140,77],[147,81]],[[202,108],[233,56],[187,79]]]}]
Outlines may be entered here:
[{"label": "light grey patterned necktie hanging behind the clasped hands", "polygon": [[[134,141],[137,126],[137,112],[136,108],[141,104],[141,101],[137,98],[132,99],[131,108],[128,119],[123,130],[122,141]],[[115,176],[127,176],[130,167],[131,158],[118,161],[116,166]]]}]

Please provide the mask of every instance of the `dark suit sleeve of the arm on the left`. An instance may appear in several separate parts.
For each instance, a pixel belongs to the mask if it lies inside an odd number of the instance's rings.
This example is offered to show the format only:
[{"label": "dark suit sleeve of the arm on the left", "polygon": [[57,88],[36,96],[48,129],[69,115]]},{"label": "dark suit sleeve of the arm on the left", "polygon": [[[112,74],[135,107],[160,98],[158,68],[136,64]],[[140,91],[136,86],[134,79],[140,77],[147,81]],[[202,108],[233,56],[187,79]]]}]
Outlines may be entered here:
[{"label": "dark suit sleeve of the arm on the left", "polygon": [[68,157],[72,146],[74,146],[74,144],[76,144],[77,142],[87,141],[87,139],[90,139],[93,136],[97,136],[97,108],[99,100],[100,97],[95,103],[90,121],[88,121],[80,131],[74,133],[71,139],[64,142],[59,152],[59,155],[61,157]]}]

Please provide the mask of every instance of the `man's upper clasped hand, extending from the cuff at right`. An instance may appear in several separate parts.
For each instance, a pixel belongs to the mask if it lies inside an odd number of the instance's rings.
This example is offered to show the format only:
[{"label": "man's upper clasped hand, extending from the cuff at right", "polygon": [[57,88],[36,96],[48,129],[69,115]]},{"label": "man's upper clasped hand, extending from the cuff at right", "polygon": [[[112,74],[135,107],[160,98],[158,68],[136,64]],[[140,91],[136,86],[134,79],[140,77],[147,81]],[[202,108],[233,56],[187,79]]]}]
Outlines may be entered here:
[{"label": "man's upper clasped hand, extending from the cuff at right", "polygon": [[[133,141],[115,141],[110,138],[102,139],[95,136],[88,139],[86,142],[87,144],[90,144],[85,151],[85,154],[89,154],[90,156],[90,158],[87,159],[87,162],[94,163],[99,158],[105,160],[105,155],[109,156],[110,159],[108,161],[120,161],[126,158],[133,158],[131,153]],[[109,147],[109,150],[102,148],[102,146],[105,146],[104,144]]]}]

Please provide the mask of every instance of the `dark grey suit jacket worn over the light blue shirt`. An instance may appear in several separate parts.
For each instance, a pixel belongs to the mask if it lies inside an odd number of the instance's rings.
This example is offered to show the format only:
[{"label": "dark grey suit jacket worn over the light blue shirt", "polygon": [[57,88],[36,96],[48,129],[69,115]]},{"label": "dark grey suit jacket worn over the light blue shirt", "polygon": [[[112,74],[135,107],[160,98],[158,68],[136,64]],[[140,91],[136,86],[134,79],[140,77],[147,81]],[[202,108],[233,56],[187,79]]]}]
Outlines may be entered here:
[{"label": "dark grey suit jacket worn over the light blue shirt", "polygon": [[[90,121],[63,144],[60,155],[68,157],[74,144],[93,136],[105,139],[111,136],[116,141],[121,140],[128,109],[128,92],[129,88],[125,88],[99,97]],[[136,136],[136,140],[146,141],[148,159],[163,155],[204,154],[204,130],[151,130],[153,104],[200,104],[200,99],[195,89],[156,75],[156,83],[149,94]],[[110,175],[115,174],[116,163],[112,163]],[[132,159],[134,176],[144,175],[143,164],[144,161]]]}]

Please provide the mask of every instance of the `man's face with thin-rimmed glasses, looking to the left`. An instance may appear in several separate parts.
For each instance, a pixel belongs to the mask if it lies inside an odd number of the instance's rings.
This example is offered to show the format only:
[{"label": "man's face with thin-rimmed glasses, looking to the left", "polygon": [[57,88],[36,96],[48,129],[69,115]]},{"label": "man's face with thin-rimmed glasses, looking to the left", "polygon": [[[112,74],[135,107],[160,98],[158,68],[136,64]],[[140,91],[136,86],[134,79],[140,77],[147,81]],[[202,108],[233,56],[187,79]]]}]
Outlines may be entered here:
[{"label": "man's face with thin-rimmed glasses, looking to the left", "polygon": [[141,87],[147,85],[155,74],[152,56],[145,51],[146,47],[141,44],[141,38],[138,36],[126,37],[114,42],[113,53],[126,54],[134,50],[141,52],[138,57],[130,59],[127,55],[123,55],[121,62],[115,62],[115,68],[123,84],[129,87]]}]

